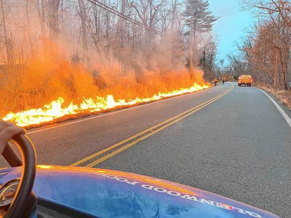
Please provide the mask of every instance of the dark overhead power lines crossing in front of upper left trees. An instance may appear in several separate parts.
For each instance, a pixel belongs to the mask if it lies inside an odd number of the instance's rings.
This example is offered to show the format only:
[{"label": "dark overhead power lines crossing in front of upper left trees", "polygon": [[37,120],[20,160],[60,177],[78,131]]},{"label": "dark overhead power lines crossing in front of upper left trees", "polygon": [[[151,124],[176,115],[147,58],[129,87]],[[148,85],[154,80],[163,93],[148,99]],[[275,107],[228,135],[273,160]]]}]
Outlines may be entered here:
[{"label": "dark overhead power lines crossing in front of upper left trees", "polygon": [[112,9],[112,8],[110,8],[109,6],[107,6],[107,5],[105,5],[105,4],[101,3],[101,2],[99,2],[98,0],[87,0],[87,1],[90,2],[90,3],[92,3],[92,4],[94,4],[94,5],[96,5],[96,6],[99,6],[100,8],[103,8],[103,9],[106,10],[106,11],[111,12],[112,14],[117,15],[118,17],[123,18],[124,20],[127,20],[127,21],[129,21],[129,22],[131,22],[131,23],[134,23],[134,24],[137,25],[137,26],[140,26],[140,27],[142,27],[142,28],[144,28],[144,29],[147,29],[147,30],[149,30],[149,31],[151,31],[151,32],[154,32],[154,33],[156,33],[156,34],[158,34],[158,35],[164,36],[165,38],[168,38],[168,39],[171,39],[171,40],[174,40],[174,41],[180,42],[180,43],[184,43],[182,40],[180,40],[180,39],[176,39],[176,38],[174,38],[174,37],[172,37],[172,36],[168,36],[168,35],[166,35],[166,34],[163,33],[163,32],[160,32],[160,31],[155,30],[155,29],[153,29],[153,28],[151,28],[151,27],[148,27],[148,26],[146,26],[146,25],[140,23],[139,21],[136,21],[136,20],[134,20],[134,19],[132,19],[132,18],[130,18],[130,17],[128,17],[128,16],[126,16],[126,15],[124,15],[124,14],[122,14],[122,13],[120,13],[120,12],[118,12],[118,11]]}]

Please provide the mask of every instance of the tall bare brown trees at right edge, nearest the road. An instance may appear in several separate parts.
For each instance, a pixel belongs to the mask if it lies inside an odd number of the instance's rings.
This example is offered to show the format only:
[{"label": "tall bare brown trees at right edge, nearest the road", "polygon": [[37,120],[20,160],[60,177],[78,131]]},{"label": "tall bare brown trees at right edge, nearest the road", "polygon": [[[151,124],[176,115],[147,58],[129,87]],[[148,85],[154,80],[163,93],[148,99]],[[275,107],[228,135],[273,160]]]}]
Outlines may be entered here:
[{"label": "tall bare brown trees at right edge, nearest the road", "polygon": [[253,10],[258,23],[250,32],[252,47],[246,47],[254,74],[263,76],[275,89],[288,89],[291,31],[291,3],[283,0],[241,1],[244,9]]}]

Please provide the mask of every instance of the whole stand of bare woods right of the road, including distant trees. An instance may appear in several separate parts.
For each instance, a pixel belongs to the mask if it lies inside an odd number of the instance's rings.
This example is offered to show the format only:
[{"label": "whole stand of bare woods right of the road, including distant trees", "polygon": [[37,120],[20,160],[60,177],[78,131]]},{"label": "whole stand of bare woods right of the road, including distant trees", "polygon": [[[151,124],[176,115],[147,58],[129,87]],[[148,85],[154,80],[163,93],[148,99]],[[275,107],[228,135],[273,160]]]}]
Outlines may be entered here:
[{"label": "whole stand of bare woods right of the road, including distant trees", "polygon": [[[228,71],[249,74],[275,90],[291,89],[291,3],[285,0],[241,0],[241,9],[254,16],[247,35],[228,55]],[[290,99],[291,103],[291,99]]]}]

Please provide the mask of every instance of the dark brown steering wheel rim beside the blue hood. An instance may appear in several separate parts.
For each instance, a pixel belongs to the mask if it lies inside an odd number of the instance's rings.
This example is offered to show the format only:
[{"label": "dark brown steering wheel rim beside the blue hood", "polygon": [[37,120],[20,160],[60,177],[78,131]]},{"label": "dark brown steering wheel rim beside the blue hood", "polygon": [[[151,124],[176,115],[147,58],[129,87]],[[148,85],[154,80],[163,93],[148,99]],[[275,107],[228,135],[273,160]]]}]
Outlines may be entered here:
[{"label": "dark brown steering wheel rim beside the blue hood", "polygon": [[33,200],[32,187],[36,172],[36,156],[34,145],[26,135],[18,134],[11,141],[21,152],[23,167],[18,188],[4,217],[19,218],[27,212]]}]

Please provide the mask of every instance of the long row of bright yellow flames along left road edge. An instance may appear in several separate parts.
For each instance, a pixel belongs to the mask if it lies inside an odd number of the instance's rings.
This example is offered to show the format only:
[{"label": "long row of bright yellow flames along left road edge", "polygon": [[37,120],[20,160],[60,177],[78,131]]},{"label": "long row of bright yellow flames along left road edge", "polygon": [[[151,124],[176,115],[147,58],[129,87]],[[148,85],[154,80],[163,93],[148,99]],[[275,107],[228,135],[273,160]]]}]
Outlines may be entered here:
[{"label": "long row of bright yellow flames along left road edge", "polygon": [[68,106],[63,106],[64,99],[59,97],[57,100],[52,101],[49,104],[45,104],[41,108],[29,109],[19,113],[9,113],[3,120],[16,123],[18,126],[26,127],[30,125],[38,125],[41,123],[51,122],[58,118],[62,118],[66,115],[77,115],[82,113],[94,113],[103,110],[109,110],[118,106],[131,106],[138,103],[150,102],[160,100],[165,97],[171,97],[175,95],[191,93],[202,89],[209,88],[209,85],[198,85],[194,83],[189,88],[175,89],[170,92],[159,92],[148,98],[135,99],[117,99],[115,100],[113,95],[107,95],[106,97],[84,98],[80,104],[74,104],[71,102]]}]

